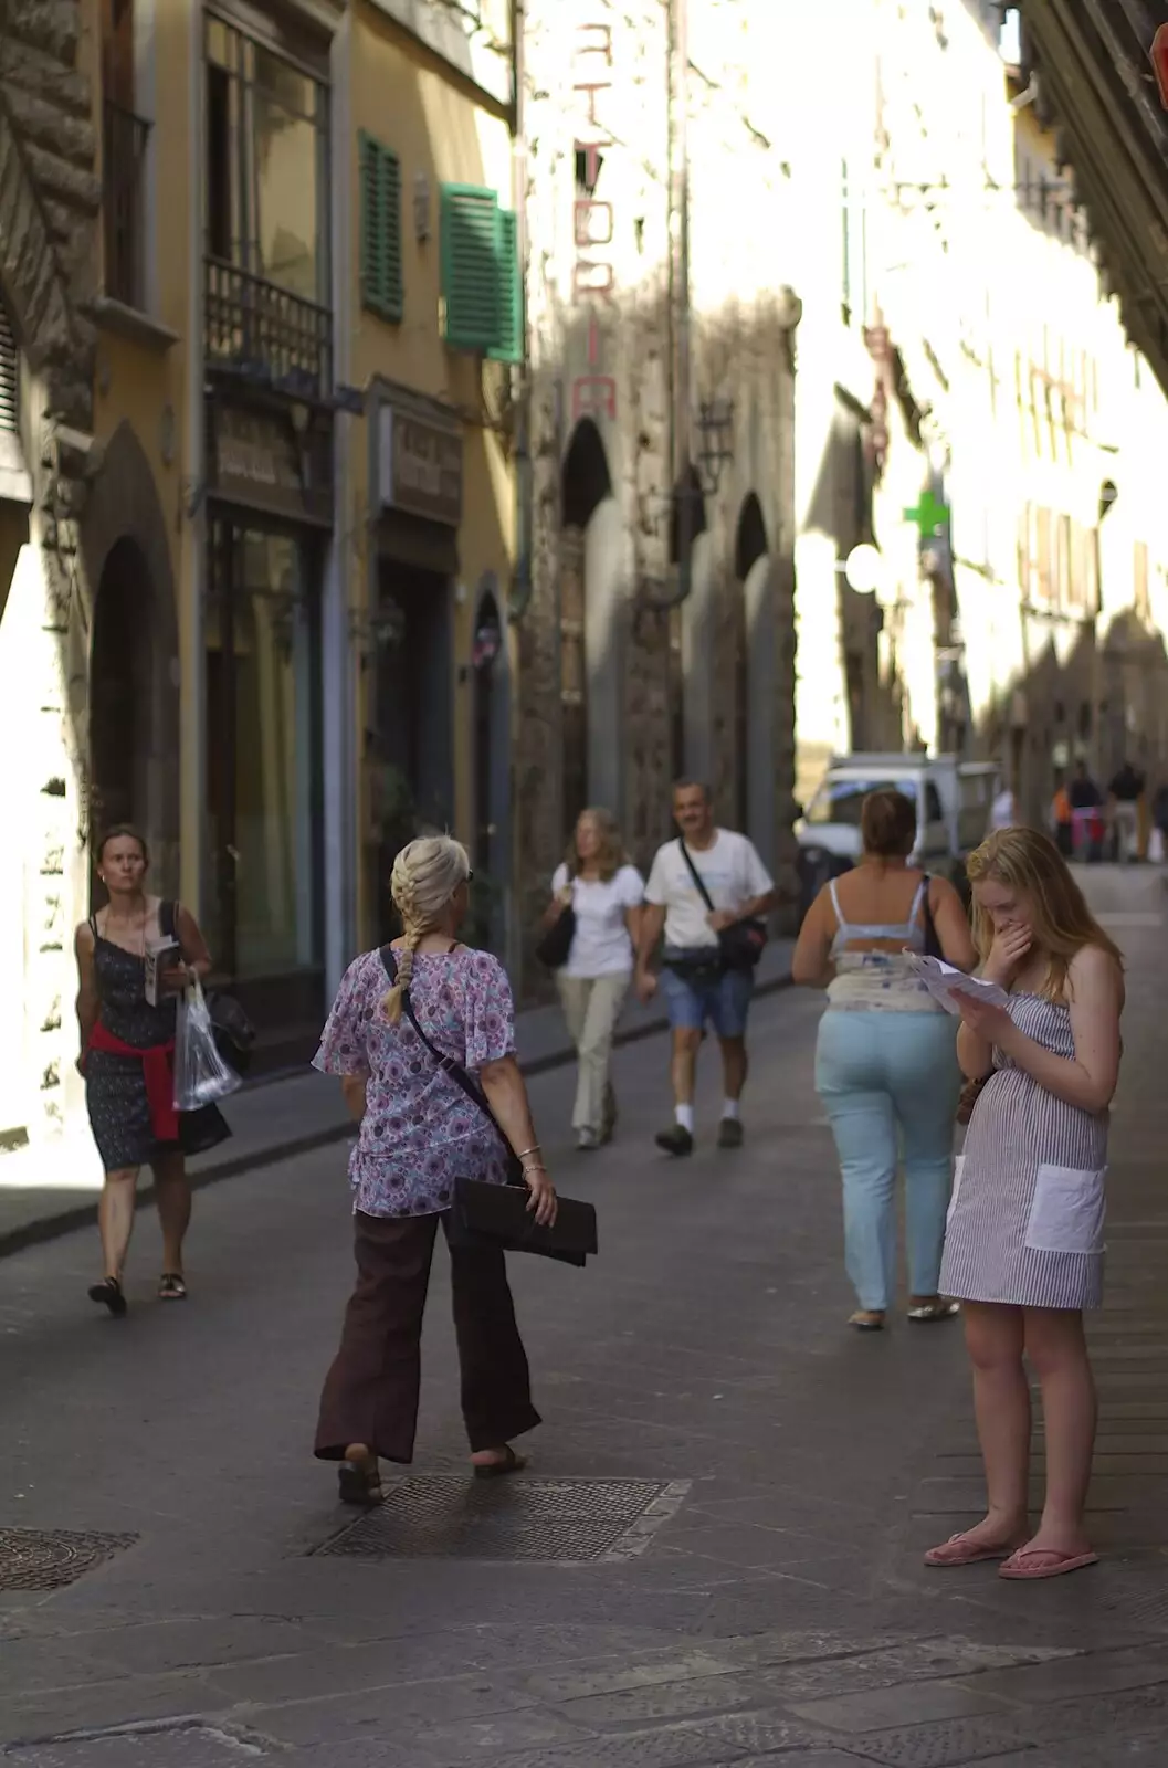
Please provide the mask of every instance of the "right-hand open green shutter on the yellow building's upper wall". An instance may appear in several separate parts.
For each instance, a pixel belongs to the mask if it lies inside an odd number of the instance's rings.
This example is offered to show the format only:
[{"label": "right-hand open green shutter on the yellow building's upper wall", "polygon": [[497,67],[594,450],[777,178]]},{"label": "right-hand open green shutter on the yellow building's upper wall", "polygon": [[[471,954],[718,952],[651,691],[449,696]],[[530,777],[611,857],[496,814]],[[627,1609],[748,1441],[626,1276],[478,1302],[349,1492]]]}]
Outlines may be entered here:
[{"label": "right-hand open green shutter on the yellow building's upper wall", "polygon": [[442,186],[445,341],[497,362],[523,361],[518,223],[495,191]]}]

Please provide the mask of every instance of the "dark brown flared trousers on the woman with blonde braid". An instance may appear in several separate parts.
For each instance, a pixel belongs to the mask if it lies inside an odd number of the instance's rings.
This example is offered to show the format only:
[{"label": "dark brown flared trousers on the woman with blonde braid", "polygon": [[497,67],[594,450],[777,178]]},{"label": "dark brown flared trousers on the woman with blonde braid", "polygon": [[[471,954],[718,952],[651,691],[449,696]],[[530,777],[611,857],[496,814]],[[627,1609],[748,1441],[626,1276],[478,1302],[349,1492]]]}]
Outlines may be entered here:
[{"label": "dark brown flared trousers on the woman with blonde braid", "polygon": [[[320,1460],[341,1460],[350,1443],[383,1460],[413,1460],[422,1314],[440,1222],[353,1216],[357,1287],[320,1397]],[[502,1448],[541,1421],[504,1254],[451,1246],[451,1284],[470,1448]]]}]

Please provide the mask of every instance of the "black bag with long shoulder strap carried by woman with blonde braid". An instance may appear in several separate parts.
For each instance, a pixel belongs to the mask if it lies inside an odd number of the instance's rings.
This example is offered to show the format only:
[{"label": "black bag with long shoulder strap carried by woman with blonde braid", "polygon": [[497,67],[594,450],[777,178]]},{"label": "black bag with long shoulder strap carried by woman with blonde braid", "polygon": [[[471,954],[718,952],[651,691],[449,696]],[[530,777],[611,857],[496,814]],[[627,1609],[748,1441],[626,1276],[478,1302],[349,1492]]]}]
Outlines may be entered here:
[{"label": "black bag with long shoulder strap carried by woman with blonde braid", "polygon": [[[382,965],[391,983],[396,983],[398,953],[392,946],[382,946]],[[408,988],[401,995],[401,1006],[438,1068],[445,1068],[451,1080],[463,1089],[472,1105],[491,1123],[505,1151],[505,1185],[486,1185],[482,1179],[454,1181],[454,1202],[447,1216],[447,1239],[451,1246],[535,1252],[544,1259],[557,1259],[560,1264],[574,1264],[583,1269],[585,1262],[597,1252],[594,1206],[578,1202],[573,1197],[558,1197],[555,1222],[551,1227],[541,1227],[528,1209],[530,1193],[523,1177],[523,1163],[500,1130],[486,1093],[472,1080],[461,1063],[456,1063],[452,1055],[444,1055],[429,1041],[419,1025]]]}]

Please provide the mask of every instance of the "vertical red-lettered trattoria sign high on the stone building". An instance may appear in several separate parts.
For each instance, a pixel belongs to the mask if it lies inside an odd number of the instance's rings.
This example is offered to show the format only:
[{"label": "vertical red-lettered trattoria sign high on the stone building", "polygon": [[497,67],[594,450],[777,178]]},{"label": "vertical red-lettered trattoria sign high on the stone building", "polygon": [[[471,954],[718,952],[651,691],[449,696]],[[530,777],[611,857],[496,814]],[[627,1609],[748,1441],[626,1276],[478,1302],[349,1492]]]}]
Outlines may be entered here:
[{"label": "vertical red-lettered trattoria sign high on the stone building", "polygon": [[611,133],[601,120],[603,94],[613,88],[613,30],[611,25],[580,23],[573,46],[573,92],[578,120],[576,168],[583,163],[583,177],[576,173],[576,200],[573,209],[573,308],[587,308],[588,366],[573,380],[573,423],[578,417],[617,417],[617,382],[604,373],[601,336],[601,309],[611,309],[613,288],[613,205],[599,202],[595,191],[601,173],[603,149],[613,145]]}]

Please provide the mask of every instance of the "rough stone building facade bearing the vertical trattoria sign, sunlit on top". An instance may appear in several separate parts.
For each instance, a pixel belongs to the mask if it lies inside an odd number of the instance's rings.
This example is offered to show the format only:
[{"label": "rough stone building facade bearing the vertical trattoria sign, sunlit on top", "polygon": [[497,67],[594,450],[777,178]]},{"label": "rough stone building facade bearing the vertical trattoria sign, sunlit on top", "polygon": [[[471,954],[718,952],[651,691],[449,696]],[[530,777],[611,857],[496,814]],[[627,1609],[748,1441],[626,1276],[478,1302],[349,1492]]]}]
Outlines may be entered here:
[{"label": "rough stone building facade bearing the vertical trattoria sign, sunlit on top", "polygon": [[[746,14],[753,0],[733,4]],[[749,585],[751,834],[792,886],[793,327],[742,216],[726,246],[726,189],[781,177],[726,69],[691,72],[691,414],[733,400],[732,460],[696,520],[693,589],[679,608],[673,492],[673,324],[668,9],[656,0],[535,0],[527,35],[527,228],[532,336],[534,596],[518,626],[516,868],[534,930],[564,842],[560,613],[565,529],[583,527],[588,599],[588,796],[618,812],[647,865],[670,834],[679,764],[710,780],[735,820],[735,576],[744,506],[762,509],[769,569]],[[735,39],[737,44],[737,39]],[[693,53],[693,51],[691,51]],[[735,53],[739,50],[735,48]],[[702,173],[716,161],[723,180]],[[735,258],[737,255],[737,258]],[[587,437],[581,435],[588,431]],[[599,444],[599,447],[597,447]],[[693,449],[702,438],[694,430]],[[599,465],[597,465],[599,463]],[[574,550],[580,541],[569,537]],[[673,553],[673,557],[671,557]],[[755,562],[755,560],[751,560]],[[762,585],[762,587],[760,587]],[[677,750],[680,628],[684,753]],[[765,794],[765,813],[760,810]],[[765,822],[765,826],[760,826]],[[530,960],[530,951],[528,951]],[[535,981],[530,962],[525,981]]]}]

